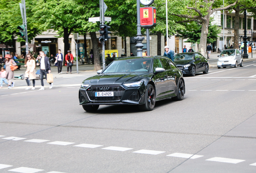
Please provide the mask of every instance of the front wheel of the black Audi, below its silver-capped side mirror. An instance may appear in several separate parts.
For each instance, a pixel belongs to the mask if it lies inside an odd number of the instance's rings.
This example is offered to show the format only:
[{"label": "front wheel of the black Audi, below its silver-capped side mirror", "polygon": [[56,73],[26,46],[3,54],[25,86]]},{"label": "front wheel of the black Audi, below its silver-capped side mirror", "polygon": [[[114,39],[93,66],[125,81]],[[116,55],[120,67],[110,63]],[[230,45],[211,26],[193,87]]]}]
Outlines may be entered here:
[{"label": "front wheel of the black Audi, below its silver-capped side mirror", "polygon": [[148,84],[146,91],[146,102],[143,105],[139,105],[140,111],[152,111],[155,107],[155,88]]}]

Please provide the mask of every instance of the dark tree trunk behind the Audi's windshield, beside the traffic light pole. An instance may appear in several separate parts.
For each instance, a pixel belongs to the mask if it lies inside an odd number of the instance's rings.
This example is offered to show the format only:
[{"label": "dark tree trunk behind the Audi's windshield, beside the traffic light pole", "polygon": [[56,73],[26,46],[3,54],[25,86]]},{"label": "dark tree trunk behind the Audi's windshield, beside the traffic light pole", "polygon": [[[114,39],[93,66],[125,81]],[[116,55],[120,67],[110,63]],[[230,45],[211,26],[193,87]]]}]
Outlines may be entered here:
[{"label": "dark tree trunk behind the Audi's windshield, beside the traffic light pole", "polygon": [[101,64],[99,60],[99,46],[98,46],[96,32],[90,32],[90,36],[91,36],[91,41],[93,43],[94,70],[98,71],[98,70],[101,70]]}]

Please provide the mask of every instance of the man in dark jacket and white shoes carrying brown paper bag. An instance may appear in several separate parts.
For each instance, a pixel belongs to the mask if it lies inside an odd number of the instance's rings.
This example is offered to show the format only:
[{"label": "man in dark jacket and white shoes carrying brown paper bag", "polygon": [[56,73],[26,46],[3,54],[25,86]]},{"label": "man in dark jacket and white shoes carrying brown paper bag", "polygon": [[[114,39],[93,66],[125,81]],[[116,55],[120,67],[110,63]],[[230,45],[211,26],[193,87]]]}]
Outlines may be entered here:
[{"label": "man in dark jacket and white shoes carrying brown paper bag", "polygon": [[[51,66],[50,66],[49,58],[44,55],[44,52],[40,51],[39,54],[41,56],[40,63],[37,63],[37,65],[40,66],[40,79],[41,79],[41,88],[39,90],[44,90],[43,75],[47,80],[47,74],[51,72]],[[53,83],[49,83],[49,84],[50,84],[50,89],[52,89]]]}]

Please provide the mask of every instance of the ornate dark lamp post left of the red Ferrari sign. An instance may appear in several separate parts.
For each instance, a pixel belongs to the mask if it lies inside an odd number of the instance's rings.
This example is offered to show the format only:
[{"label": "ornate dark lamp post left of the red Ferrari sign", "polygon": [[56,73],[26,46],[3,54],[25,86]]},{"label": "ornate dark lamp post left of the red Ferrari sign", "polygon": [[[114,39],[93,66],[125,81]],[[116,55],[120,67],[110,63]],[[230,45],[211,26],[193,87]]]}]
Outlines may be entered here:
[{"label": "ornate dark lamp post left of the red Ferrari sign", "polygon": [[144,40],[144,37],[141,36],[141,25],[140,25],[140,0],[137,0],[137,36],[134,37],[134,40],[136,40],[135,47],[137,48],[137,56],[142,56],[142,47],[144,46],[142,44],[142,41]]}]

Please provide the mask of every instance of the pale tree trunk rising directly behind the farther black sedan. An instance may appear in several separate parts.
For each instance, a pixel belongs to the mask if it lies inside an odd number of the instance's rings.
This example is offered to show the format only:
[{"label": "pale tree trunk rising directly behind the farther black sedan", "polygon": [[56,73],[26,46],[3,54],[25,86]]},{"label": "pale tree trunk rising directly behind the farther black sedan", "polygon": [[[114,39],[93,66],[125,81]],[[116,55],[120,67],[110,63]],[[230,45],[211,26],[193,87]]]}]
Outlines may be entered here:
[{"label": "pale tree trunk rising directly behind the farther black sedan", "polygon": [[209,20],[202,21],[202,30],[201,30],[201,37],[200,37],[200,44],[199,44],[199,51],[204,57],[206,52],[206,42],[207,42],[207,36],[208,36],[208,26],[209,26]]}]

